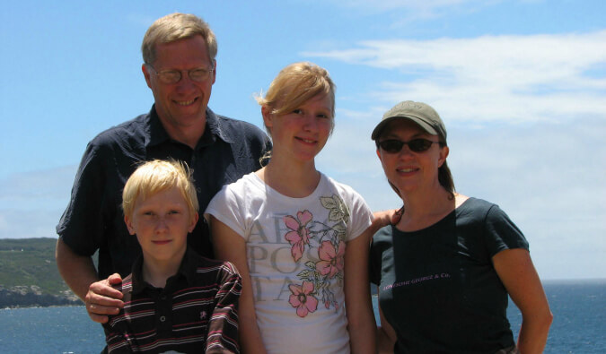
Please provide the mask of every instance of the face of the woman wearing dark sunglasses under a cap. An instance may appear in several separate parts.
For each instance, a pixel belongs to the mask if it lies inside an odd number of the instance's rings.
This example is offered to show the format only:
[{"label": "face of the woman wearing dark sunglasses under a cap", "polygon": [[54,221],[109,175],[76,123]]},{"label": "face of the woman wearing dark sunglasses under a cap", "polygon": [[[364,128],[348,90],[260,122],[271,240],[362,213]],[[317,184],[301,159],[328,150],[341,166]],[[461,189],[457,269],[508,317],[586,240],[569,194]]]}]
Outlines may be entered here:
[{"label": "face of the woman wearing dark sunglasses under a cap", "polygon": [[[413,151],[421,148],[416,139],[431,142],[426,151]],[[387,142],[390,141],[390,142]],[[407,144],[397,150],[398,142],[413,141],[413,149]],[[441,147],[438,136],[428,134],[423,128],[408,119],[398,119],[383,129],[379,142],[386,149],[379,147],[377,156],[381,160],[387,179],[400,190],[400,195],[415,191],[439,187],[438,168],[448,156],[448,147]],[[427,143],[429,144],[429,143]],[[395,146],[395,148],[394,148]]]}]

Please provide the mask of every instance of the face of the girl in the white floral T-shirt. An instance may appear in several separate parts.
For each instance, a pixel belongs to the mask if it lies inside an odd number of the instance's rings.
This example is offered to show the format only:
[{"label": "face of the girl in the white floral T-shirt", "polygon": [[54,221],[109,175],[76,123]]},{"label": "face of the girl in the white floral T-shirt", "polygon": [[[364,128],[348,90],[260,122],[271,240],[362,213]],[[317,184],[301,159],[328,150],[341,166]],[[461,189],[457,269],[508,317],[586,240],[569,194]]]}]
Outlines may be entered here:
[{"label": "face of the girl in the white floral T-shirt", "polygon": [[329,96],[318,95],[280,116],[261,108],[274,144],[272,159],[283,156],[292,161],[313,160],[329,139],[333,104]]}]

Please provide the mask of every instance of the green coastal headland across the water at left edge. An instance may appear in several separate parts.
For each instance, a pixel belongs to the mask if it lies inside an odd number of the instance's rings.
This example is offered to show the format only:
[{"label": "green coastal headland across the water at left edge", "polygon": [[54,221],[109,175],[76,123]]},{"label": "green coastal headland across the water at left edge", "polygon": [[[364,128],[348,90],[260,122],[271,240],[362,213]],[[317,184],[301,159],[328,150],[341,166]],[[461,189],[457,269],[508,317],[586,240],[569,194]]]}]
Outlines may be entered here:
[{"label": "green coastal headland across the water at left edge", "polygon": [[0,308],[83,305],[57,270],[57,238],[0,239]]}]

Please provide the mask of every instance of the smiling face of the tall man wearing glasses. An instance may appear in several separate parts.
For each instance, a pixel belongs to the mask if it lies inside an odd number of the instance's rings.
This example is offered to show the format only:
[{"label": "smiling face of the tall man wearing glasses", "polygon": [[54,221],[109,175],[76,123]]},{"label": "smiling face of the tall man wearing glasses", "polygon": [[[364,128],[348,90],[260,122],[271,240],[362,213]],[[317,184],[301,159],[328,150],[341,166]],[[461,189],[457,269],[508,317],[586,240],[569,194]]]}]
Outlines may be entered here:
[{"label": "smiling face of the tall man wearing glasses", "polygon": [[[191,69],[212,69],[214,63],[208,56],[206,42],[202,36],[180,39],[155,45],[156,59],[152,67],[143,65],[147,86],[154,92],[155,109],[162,125],[169,134],[187,131],[206,125],[206,106],[215,83],[215,71],[204,82],[189,78]],[[157,73],[180,71],[181,79],[176,83],[164,83]]]}]

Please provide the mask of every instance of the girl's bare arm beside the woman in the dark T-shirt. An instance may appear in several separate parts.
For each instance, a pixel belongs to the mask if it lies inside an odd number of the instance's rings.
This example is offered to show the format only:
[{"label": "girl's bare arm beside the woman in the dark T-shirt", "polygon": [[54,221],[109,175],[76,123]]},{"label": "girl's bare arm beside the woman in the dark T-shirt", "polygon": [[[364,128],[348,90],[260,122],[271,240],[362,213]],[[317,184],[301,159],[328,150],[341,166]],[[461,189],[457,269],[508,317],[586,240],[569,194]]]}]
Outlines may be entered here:
[{"label": "girl's bare arm beside the woman in the dark T-shirt", "polygon": [[370,228],[347,242],[345,249],[345,305],[352,353],[375,351],[373,302],[368,279]]}]

